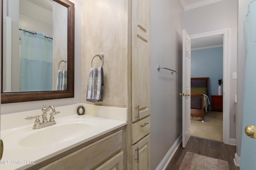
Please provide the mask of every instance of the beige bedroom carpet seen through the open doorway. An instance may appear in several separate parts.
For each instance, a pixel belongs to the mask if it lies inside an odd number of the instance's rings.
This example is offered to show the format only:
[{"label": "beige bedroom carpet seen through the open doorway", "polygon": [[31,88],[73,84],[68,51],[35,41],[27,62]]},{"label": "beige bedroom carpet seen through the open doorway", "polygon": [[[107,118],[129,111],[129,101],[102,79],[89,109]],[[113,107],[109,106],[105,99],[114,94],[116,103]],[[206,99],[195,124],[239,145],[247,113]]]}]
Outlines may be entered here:
[{"label": "beige bedroom carpet seen through the open doorway", "polygon": [[204,116],[204,123],[191,120],[191,136],[223,142],[223,113],[208,111]]}]

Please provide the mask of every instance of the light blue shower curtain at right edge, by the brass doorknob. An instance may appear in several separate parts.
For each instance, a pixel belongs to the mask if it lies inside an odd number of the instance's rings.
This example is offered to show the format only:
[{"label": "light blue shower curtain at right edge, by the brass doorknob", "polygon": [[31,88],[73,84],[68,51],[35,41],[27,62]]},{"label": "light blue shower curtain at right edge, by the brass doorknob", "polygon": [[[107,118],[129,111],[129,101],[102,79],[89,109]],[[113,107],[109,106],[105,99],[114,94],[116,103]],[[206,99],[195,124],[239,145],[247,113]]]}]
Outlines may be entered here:
[{"label": "light blue shower curtain at right edge, by the brass doorknob", "polygon": [[[241,170],[256,169],[256,139],[244,133],[247,125],[256,125],[256,0],[250,0],[245,19],[246,73],[242,123]],[[240,129],[237,129],[240,130]]]}]

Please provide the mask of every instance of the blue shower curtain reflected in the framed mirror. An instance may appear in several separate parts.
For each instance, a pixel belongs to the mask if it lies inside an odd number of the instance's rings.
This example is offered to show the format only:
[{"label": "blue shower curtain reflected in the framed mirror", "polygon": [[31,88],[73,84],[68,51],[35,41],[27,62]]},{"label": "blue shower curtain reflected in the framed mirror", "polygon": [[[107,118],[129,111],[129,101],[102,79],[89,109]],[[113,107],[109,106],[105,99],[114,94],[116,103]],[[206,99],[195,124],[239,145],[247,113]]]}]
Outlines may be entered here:
[{"label": "blue shower curtain reflected in the framed mirror", "polygon": [[52,39],[26,31],[21,36],[20,92],[52,91]]}]

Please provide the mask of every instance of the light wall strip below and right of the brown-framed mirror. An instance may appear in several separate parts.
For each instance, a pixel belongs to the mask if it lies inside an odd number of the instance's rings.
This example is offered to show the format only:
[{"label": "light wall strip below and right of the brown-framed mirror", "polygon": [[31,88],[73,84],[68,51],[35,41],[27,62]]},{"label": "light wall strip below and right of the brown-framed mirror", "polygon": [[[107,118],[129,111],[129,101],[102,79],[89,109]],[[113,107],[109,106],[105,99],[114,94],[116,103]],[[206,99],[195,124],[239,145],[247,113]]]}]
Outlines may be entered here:
[{"label": "light wall strip below and right of the brown-framed mirror", "polygon": [[74,77],[74,98],[43,100],[34,102],[21,102],[14,104],[1,104],[1,114],[16,113],[40,109],[43,104],[65,106],[81,103],[81,2],[80,0],[70,0],[75,4],[75,77]]}]

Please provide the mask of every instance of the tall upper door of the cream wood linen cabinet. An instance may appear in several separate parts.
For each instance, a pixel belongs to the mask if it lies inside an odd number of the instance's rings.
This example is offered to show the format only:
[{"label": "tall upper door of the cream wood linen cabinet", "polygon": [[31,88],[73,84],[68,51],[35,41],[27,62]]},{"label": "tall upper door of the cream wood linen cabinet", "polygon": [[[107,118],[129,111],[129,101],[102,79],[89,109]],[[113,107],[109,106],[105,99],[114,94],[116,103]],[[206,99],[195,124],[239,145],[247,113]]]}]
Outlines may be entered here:
[{"label": "tall upper door of the cream wood linen cabinet", "polygon": [[150,0],[132,0],[132,121],[150,114]]}]

